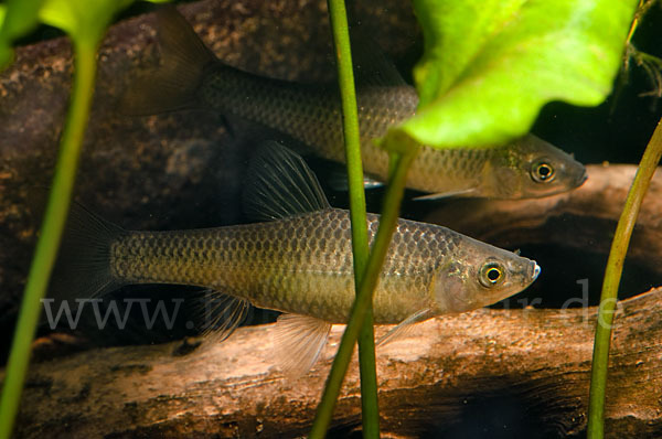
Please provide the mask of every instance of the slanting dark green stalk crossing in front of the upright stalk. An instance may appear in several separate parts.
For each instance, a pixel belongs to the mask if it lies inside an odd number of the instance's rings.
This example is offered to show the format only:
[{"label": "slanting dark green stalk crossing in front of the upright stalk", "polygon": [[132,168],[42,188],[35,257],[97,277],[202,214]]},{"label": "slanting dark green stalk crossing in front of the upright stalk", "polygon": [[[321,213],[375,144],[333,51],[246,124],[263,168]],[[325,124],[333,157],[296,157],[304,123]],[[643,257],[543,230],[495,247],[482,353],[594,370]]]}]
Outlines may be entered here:
[{"label": "slanting dark green stalk crossing in front of the upright stalk", "polygon": [[361,279],[359,286],[359,292],[356,293],[356,300],[352,306],[352,312],[350,320],[342,335],[338,353],[331,365],[331,372],[327,378],[327,386],[322,394],[322,398],[318,406],[312,429],[309,438],[319,439],[323,438],[331,418],[333,415],[333,408],[335,407],[335,400],[340,394],[340,388],[344,375],[348,371],[350,360],[352,358],[352,352],[354,351],[354,343],[359,338],[359,332],[365,319],[365,313],[372,302],[372,293],[377,285],[377,279],[382,270],[382,265],[386,258],[386,251],[391,244],[391,236],[397,225],[397,218],[399,214],[399,207],[405,191],[405,182],[407,178],[407,171],[412,161],[418,152],[418,147],[410,148],[404,153],[395,154],[395,167],[392,178],[388,180],[388,186],[384,197],[384,205],[382,207],[382,216],[380,220],[380,227],[375,236],[373,247],[371,249],[370,258],[367,259],[367,266],[365,272]]}]

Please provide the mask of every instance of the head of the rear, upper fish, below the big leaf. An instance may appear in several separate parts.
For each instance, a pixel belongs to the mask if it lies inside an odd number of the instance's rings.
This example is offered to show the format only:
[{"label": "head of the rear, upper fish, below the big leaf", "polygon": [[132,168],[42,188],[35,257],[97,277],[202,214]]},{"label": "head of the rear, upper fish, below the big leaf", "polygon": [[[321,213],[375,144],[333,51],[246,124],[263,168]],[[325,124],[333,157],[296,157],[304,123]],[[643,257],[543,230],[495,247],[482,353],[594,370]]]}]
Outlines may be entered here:
[{"label": "head of the rear, upper fish, below the big leaf", "polygon": [[493,156],[488,183],[495,199],[537,199],[580,186],[586,169],[573,156],[533,135]]}]

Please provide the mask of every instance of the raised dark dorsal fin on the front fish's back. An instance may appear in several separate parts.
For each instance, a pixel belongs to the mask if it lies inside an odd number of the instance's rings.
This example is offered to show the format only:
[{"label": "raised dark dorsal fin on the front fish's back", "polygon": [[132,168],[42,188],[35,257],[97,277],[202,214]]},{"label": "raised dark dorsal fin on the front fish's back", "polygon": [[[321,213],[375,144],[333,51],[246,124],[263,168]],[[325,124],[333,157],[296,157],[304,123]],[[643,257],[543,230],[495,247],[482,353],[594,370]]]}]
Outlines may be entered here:
[{"label": "raised dark dorsal fin on the front fish's back", "polygon": [[275,141],[261,143],[246,173],[244,212],[273,221],[331,207],[320,183],[300,156]]}]

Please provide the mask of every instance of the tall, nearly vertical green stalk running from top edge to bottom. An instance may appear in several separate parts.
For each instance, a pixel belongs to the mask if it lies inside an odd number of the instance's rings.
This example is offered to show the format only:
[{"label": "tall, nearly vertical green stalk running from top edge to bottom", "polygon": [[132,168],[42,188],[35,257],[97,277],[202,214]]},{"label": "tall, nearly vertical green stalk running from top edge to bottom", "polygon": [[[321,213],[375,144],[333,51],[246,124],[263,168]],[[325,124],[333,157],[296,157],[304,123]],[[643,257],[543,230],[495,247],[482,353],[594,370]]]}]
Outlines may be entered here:
[{"label": "tall, nearly vertical green stalk running from top edge to bottom", "polygon": [[[354,258],[354,285],[359,291],[361,277],[369,257],[367,218],[365,214],[365,191],[363,189],[363,164],[361,162],[361,140],[356,92],[352,68],[352,51],[344,0],[328,0],[329,17],[333,31],[338,81],[342,101],[343,131],[348,182],[350,186],[350,218],[352,223],[352,253]],[[363,437],[380,437],[380,406],[377,399],[377,376],[375,368],[375,336],[373,328],[372,301],[359,335],[359,365],[361,370],[361,416]]]}]

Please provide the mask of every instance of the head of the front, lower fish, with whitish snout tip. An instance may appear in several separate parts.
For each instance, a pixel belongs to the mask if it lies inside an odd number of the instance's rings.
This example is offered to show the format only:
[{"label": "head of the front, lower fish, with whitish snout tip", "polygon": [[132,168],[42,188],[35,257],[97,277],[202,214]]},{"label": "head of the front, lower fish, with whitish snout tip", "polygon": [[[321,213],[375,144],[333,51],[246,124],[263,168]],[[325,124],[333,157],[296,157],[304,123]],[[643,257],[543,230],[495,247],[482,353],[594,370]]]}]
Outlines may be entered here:
[{"label": "head of the front, lower fish, with whitish snout tip", "polygon": [[458,313],[496,303],[528,287],[540,266],[515,253],[468,237],[462,254],[435,276],[433,300],[438,313]]}]

